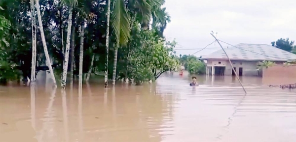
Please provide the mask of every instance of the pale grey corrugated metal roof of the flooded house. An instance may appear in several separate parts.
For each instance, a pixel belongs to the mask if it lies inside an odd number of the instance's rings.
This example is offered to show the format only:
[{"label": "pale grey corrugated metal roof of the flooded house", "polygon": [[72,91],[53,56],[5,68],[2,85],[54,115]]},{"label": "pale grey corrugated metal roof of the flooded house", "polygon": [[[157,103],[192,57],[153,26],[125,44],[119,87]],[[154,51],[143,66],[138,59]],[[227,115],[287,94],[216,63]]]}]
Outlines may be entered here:
[{"label": "pale grey corrugated metal roof of the flooded house", "polygon": [[[296,59],[296,55],[267,44],[238,44],[224,48],[231,60],[271,60],[288,61]],[[201,59],[227,59],[223,50],[218,50]]]}]

